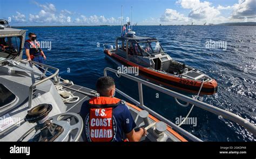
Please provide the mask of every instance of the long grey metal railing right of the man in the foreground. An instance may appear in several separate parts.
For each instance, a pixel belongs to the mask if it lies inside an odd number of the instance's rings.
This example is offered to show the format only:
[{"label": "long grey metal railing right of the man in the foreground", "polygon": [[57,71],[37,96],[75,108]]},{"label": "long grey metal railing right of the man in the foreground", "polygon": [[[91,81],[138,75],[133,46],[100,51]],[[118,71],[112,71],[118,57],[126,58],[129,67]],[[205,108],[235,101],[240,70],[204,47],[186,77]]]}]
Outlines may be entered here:
[{"label": "long grey metal railing right of the man in the foreground", "polygon": [[135,81],[138,83],[138,93],[139,93],[139,102],[130,97],[129,95],[126,95],[126,93],[120,91],[119,89],[116,89],[116,91],[118,93],[120,93],[120,95],[124,96],[125,98],[131,100],[131,102],[133,102],[134,104],[136,104],[138,107],[149,111],[152,115],[154,115],[154,117],[158,118],[161,121],[166,122],[166,124],[170,125],[173,129],[175,129],[178,133],[183,134],[186,138],[192,140],[192,141],[202,141],[199,138],[197,138],[196,136],[192,135],[191,133],[188,133],[187,131],[185,131],[183,128],[179,127],[178,125],[174,124],[173,122],[171,122],[170,120],[167,120],[166,118],[164,118],[163,116],[161,116],[160,114],[154,112],[153,110],[149,109],[149,107],[146,107],[144,105],[143,102],[143,85],[146,85],[154,90],[157,90],[159,92],[165,93],[166,95],[169,95],[173,98],[178,98],[180,100],[183,100],[184,102],[187,102],[189,104],[193,104],[194,106],[200,107],[203,110],[206,110],[208,112],[217,114],[217,115],[221,115],[223,118],[231,120],[236,122],[237,124],[239,124],[242,127],[245,127],[249,132],[251,132],[254,136],[256,136],[256,127],[254,126],[254,124],[252,124],[251,122],[249,122],[248,120],[239,117],[238,115],[228,112],[226,110],[220,109],[219,107],[215,107],[213,105],[201,102],[199,100],[196,100],[194,98],[182,95],[181,93],[163,88],[159,85],[144,81],[143,79],[128,75],[128,74],[124,74],[120,71],[114,70],[112,68],[105,68],[104,69],[104,76],[107,76],[107,71],[110,71],[114,74],[116,74],[118,77],[123,76],[126,78],[131,79],[132,81]]}]

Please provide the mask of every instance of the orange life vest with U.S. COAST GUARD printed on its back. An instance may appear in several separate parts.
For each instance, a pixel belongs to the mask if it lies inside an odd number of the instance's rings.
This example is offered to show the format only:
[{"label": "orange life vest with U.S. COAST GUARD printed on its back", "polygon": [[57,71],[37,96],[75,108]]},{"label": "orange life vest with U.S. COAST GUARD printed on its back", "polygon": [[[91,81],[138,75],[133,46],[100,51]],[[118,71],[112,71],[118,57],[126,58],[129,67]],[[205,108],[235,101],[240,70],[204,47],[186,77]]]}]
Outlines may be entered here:
[{"label": "orange life vest with U.S. COAST GUARD printed on its back", "polygon": [[89,100],[90,113],[85,119],[85,134],[89,141],[109,142],[114,140],[117,127],[113,117],[113,108],[120,104],[120,99],[95,97]]}]

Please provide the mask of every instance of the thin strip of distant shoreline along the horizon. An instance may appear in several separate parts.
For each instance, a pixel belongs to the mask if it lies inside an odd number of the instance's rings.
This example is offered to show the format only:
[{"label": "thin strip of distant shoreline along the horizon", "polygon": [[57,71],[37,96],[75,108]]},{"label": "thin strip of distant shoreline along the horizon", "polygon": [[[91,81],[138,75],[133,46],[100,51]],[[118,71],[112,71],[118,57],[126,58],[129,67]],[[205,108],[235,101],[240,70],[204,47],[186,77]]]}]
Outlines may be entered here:
[{"label": "thin strip of distant shoreline along the horizon", "polygon": [[[102,26],[120,26],[120,25],[47,25],[47,26],[12,26],[21,27],[102,27]],[[256,26],[256,22],[240,22],[240,23],[221,23],[208,25],[137,25],[137,26]]]}]

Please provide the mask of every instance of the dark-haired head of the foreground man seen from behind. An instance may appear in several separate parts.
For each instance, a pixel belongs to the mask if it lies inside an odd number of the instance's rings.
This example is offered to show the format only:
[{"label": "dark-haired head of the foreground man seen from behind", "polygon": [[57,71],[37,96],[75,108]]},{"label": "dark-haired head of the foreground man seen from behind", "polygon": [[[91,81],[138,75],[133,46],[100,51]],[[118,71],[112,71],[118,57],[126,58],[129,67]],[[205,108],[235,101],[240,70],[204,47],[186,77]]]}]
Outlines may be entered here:
[{"label": "dark-haired head of the foreground man seen from behind", "polygon": [[100,96],[114,97],[116,92],[114,79],[109,76],[100,77],[96,82],[96,89]]}]

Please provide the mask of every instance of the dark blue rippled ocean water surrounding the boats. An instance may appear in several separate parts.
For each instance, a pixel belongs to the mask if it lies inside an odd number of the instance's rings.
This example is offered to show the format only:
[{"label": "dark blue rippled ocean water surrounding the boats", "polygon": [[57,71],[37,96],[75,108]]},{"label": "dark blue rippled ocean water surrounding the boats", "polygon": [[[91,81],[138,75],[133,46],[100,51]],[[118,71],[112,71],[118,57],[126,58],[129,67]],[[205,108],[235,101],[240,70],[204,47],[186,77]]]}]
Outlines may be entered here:
[{"label": "dark blue rippled ocean water surrounding the boats", "polygon": [[[95,82],[103,76],[105,67],[117,69],[103,54],[103,44],[115,41],[120,35],[119,26],[23,29],[28,30],[27,34],[35,32],[39,41],[51,41],[51,50],[43,49],[46,64],[59,68],[61,77],[78,85],[95,89]],[[218,92],[200,96],[199,100],[255,123],[255,26],[134,26],[133,30],[137,35],[158,38],[165,52],[174,60],[217,80]],[[227,42],[226,50],[206,48],[206,41],[210,40]],[[123,77],[115,79],[117,88],[138,99],[136,83]],[[190,106],[177,105],[172,97],[146,86],[143,89],[145,105],[173,122],[180,116],[185,117],[190,110]],[[159,93],[158,98],[156,93]],[[204,141],[256,141],[245,128],[198,107],[194,107],[190,117],[197,119],[197,125],[181,127]]]}]

